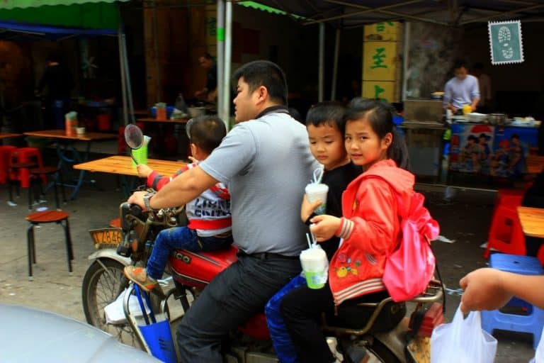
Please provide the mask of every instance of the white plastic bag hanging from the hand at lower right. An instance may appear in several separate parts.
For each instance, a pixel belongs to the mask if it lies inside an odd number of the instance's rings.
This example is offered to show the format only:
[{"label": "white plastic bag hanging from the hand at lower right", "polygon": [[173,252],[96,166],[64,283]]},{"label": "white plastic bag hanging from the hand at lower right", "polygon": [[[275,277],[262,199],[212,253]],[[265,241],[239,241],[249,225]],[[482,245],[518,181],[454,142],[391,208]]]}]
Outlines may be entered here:
[{"label": "white plastic bag hanging from the hand at lower right", "polygon": [[431,335],[431,363],[493,363],[497,339],[482,330],[480,311],[463,318],[457,308],[453,321]]}]

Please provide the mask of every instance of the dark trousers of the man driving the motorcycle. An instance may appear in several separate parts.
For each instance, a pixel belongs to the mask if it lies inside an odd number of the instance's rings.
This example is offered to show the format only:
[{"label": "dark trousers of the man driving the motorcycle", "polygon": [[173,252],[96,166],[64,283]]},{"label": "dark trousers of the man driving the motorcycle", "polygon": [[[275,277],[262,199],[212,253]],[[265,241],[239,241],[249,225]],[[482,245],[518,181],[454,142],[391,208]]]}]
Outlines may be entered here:
[{"label": "dark trousers of the man driving the motorcycle", "polygon": [[181,362],[223,362],[223,338],[251,316],[263,313],[266,302],[297,274],[298,258],[239,255],[183,316],[177,330]]}]

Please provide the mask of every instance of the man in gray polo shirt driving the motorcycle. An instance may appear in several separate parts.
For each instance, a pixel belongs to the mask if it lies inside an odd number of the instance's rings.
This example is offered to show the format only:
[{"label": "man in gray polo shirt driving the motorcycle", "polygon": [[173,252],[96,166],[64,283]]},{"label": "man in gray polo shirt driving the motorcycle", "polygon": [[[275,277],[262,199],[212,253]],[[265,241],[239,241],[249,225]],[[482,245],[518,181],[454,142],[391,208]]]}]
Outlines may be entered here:
[{"label": "man in gray polo shirt driving the motorcycle", "polygon": [[[237,126],[198,167],[154,196],[129,202],[146,209],[179,206],[218,181],[229,185],[238,260],[212,280],[178,328],[182,362],[222,362],[221,341],[300,272],[305,248],[300,201],[318,166],[305,127],[288,114],[285,74],[255,61],[234,74]],[[249,121],[249,122],[242,122]]]}]

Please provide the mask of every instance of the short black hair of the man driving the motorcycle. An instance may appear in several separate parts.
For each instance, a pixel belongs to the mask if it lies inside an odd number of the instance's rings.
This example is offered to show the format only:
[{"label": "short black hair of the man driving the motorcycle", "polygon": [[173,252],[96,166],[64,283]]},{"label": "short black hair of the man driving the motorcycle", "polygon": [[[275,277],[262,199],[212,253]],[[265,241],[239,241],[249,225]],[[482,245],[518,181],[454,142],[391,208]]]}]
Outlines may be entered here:
[{"label": "short black hair of the man driving the motorcycle", "polygon": [[234,72],[233,84],[237,84],[240,78],[249,84],[249,92],[255,91],[260,86],[265,86],[271,101],[287,106],[287,81],[285,73],[268,60],[255,60],[239,67]]}]

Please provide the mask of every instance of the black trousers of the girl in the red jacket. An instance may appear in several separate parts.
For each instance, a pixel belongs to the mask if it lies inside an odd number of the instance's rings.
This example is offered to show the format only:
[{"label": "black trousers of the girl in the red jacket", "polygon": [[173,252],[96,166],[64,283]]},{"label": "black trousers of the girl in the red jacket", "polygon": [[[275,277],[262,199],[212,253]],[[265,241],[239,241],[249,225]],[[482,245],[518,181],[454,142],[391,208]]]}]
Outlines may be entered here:
[{"label": "black trousers of the girl in the red jacket", "polygon": [[[386,291],[379,291],[353,298],[341,306],[381,301],[387,296]],[[283,297],[280,311],[295,345],[299,362],[330,363],[336,360],[321,330],[322,313],[334,312],[334,299],[329,283],[322,289],[300,286],[290,291]]]}]

